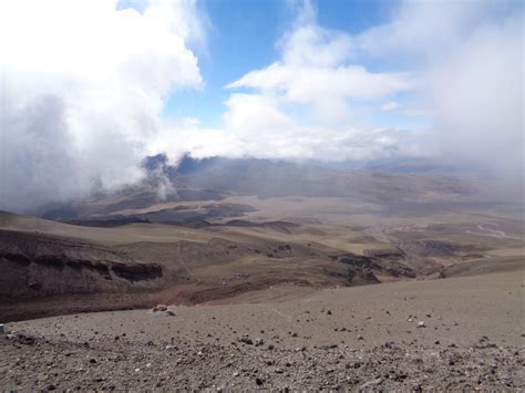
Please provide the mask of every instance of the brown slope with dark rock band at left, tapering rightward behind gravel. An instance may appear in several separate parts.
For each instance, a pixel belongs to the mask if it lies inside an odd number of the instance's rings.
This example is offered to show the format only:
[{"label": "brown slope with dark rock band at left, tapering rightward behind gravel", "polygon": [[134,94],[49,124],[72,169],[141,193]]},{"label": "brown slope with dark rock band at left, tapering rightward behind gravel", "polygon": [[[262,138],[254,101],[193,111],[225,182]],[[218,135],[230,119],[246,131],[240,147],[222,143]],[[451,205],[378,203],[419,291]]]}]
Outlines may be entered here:
[{"label": "brown slope with dark rock band at left, tapering rightward behind gravel", "polygon": [[0,218],[0,310],[8,320],[198,303],[280,283],[354,286],[377,283],[377,275],[416,275],[399,256],[354,255],[323,244],[331,238],[326,227],[290,221],[230,220],[194,229],[83,227],[8,213]]}]

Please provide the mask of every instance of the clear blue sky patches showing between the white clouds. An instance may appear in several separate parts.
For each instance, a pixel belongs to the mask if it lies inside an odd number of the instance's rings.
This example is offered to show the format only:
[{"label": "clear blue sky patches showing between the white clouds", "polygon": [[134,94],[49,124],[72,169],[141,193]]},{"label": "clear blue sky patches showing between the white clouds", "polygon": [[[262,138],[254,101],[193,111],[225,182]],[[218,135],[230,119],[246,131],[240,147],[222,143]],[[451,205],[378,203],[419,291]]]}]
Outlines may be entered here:
[{"label": "clear blue sky patches showing between the white clouds", "polygon": [[[325,0],[315,6],[320,25],[354,34],[387,22],[395,4],[387,0]],[[195,117],[204,126],[218,127],[224,102],[231,93],[226,84],[278,58],[278,41],[291,28],[296,9],[285,0],[206,0],[202,7],[209,22],[207,44],[195,50],[205,85],[197,91],[174,92],[164,114]],[[366,65],[372,71],[384,69],[383,62],[367,61]],[[392,122],[401,127],[426,124],[391,113],[381,114],[377,121],[380,126]]]}]

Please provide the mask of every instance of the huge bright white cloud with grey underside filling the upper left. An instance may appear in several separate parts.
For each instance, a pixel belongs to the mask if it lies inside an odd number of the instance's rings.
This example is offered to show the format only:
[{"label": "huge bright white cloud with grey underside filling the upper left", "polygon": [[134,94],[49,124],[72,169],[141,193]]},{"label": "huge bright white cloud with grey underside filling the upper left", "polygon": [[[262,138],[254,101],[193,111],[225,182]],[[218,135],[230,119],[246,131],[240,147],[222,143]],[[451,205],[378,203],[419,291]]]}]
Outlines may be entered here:
[{"label": "huge bright white cloud with grey underside filling the upper left", "polygon": [[0,208],[137,180],[163,100],[203,83],[195,1],[8,0],[0,29]]}]

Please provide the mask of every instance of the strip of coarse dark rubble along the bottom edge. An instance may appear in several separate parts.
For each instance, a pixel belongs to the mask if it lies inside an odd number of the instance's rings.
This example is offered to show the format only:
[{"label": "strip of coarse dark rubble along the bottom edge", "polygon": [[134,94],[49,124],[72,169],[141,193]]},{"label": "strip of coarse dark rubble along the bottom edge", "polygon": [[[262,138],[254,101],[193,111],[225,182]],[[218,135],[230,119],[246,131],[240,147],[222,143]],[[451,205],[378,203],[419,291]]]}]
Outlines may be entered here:
[{"label": "strip of coarse dark rubble along the bottom edge", "polygon": [[91,342],[4,335],[4,390],[370,389],[515,390],[524,387],[525,351],[482,338],[471,348],[383,345],[358,350],[327,343],[280,349],[251,339],[228,344]]}]

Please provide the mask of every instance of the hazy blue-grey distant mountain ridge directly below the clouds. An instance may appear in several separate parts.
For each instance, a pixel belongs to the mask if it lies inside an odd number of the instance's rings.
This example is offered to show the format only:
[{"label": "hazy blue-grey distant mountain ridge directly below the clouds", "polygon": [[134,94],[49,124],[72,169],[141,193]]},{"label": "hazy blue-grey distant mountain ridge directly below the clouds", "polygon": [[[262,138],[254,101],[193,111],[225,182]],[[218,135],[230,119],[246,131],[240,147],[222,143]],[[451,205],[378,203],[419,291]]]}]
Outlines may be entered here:
[{"label": "hazy blue-grey distant mountain ridge directly below the clouds", "polygon": [[[401,165],[401,164],[400,164]],[[37,215],[50,219],[81,219],[91,215],[112,215],[125,209],[145,208],[167,201],[220,200],[229,196],[339,197],[356,204],[406,204],[457,199],[485,195],[497,187],[457,175],[404,173],[403,170],[334,169],[315,164],[257,158],[183,156],[171,165],[165,155],[144,161],[145,179],[120,190],[99,194],[85,200],[58,203]],[[398,167],[399,168],[399,167]],[[490,193],[488,193],[490,194]],[[494,199],[494,196],[486,196]],[[478,200],[485,200],[480,197]],[[491,200],[492,200],[491,199]]]}]

